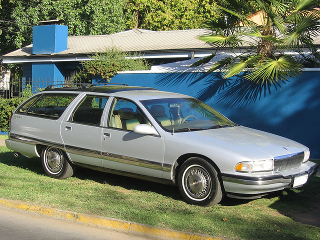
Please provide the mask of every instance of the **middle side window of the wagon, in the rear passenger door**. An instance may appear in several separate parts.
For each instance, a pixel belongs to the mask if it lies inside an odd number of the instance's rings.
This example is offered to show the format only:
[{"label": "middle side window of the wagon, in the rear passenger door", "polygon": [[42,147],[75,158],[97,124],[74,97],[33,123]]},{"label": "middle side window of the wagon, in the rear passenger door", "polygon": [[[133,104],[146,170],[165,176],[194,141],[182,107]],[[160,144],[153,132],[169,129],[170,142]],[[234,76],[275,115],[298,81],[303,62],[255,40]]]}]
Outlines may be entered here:
[{"label": "middle side window of the wagon, in the rear passenger door", "polygon": [[100,125],[102,112],[108,97],[87,95],[70,116],[71,121]]}]

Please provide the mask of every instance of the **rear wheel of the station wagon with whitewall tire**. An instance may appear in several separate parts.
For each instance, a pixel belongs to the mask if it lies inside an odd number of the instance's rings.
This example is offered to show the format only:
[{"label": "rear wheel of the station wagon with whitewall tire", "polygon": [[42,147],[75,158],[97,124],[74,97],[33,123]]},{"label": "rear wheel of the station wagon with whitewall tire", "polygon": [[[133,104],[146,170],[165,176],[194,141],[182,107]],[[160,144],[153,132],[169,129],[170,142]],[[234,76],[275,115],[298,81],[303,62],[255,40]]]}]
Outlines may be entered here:
[{"label": "rear wheel of the station wagon with whitewall tire", "polygon": [[59,148],[52,146],[43,148],[41,162],[45,173],[50,177],[63,179],[72,176],[74,173],[74,167]]}]

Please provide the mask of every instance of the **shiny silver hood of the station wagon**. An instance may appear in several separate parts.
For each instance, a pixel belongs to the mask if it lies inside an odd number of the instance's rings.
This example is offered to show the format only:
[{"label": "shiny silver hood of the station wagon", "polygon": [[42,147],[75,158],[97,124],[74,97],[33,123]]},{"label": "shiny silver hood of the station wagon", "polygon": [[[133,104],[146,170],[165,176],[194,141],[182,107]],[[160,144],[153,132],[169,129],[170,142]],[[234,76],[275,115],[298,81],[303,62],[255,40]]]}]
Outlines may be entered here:
[{"label": "shiny silver hood of the station wagon", "polygon": [[[196,144],[212,144],[237,151],[251,159],[266,159],[308,150],[296,141],[244,126],[185,132]],[[189,139],[190,139],[189,138]]]}]

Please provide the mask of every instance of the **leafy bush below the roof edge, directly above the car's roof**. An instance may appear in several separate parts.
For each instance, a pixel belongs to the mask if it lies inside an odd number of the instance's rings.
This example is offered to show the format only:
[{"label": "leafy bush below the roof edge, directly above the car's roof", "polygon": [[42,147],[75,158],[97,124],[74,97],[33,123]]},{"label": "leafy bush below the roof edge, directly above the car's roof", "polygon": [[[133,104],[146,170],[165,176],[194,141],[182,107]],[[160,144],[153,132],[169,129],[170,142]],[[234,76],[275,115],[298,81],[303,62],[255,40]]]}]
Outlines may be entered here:
[{"label": "leafy bush below the roof edge, directly above the car's roof", "polygon": [[102,53],[95,53],[91,60],[81,61],[80,72],[74,78],[89,82],[93,76],[100,76],[110,81],[118,71],[148,70],[150,64],[139,55],[121,52],[115,48],[107,49]]}]

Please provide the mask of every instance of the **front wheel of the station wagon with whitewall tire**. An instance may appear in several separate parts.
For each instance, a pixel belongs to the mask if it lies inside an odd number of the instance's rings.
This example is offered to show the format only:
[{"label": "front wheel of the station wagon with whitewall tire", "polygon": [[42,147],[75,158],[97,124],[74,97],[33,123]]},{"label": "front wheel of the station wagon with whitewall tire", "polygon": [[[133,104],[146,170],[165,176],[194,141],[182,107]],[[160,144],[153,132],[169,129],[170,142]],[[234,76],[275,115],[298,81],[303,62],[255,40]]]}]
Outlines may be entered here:
[{"label": "front wheel of the station wagon with whitewall tire", "polygon": [[209,206],[219,203],[224,195],[217,170],[206,160],[190,157],[178,173],[180,193],[187,203]]}]

